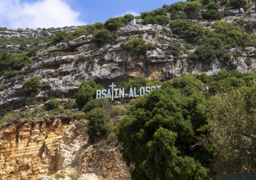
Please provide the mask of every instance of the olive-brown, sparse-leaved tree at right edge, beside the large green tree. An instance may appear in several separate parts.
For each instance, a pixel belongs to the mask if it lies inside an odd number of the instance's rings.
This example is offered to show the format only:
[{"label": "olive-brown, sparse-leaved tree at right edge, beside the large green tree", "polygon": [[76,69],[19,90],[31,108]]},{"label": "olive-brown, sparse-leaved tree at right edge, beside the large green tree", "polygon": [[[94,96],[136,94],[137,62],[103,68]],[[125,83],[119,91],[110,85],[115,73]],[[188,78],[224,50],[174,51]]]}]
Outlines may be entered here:
[{"label": "olive-brown, sparse-leaved tree at right edge, beside the large green tree", "polygon": [[256,169],[256,88],[218,93],[208,109],[209,142],[216,150],[213,168],[217,173],[249,173]]}]

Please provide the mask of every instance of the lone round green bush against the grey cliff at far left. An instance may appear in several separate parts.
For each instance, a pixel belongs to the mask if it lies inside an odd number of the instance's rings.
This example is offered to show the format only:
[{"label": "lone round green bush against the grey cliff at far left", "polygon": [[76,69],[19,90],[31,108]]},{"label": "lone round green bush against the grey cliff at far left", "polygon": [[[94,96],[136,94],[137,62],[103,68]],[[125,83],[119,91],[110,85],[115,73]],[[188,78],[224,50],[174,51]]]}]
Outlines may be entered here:
[{"label": "lone round green bush against the grey cliff at far left", "polygon": [[40,93],[41,83],[39,77],[32,77],[22,84],[22,90],[25,92],[25,96],[34,96]]}]

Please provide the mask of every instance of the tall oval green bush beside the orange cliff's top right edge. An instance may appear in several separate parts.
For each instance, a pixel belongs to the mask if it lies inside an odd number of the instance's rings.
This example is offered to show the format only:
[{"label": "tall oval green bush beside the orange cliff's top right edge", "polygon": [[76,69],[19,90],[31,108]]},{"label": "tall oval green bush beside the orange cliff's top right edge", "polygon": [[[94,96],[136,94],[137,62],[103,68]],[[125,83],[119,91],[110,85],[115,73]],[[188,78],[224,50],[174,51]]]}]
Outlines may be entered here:
[{"label": "tall oval green bush beside the orange cliff's top right edge", "polygon": [[86,114],[88,142],[93,144],[95,140],[107,135],[109,131],[110,117],[105,108],[96,107]]}]

